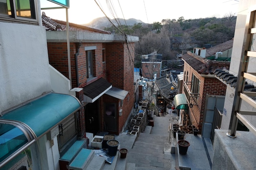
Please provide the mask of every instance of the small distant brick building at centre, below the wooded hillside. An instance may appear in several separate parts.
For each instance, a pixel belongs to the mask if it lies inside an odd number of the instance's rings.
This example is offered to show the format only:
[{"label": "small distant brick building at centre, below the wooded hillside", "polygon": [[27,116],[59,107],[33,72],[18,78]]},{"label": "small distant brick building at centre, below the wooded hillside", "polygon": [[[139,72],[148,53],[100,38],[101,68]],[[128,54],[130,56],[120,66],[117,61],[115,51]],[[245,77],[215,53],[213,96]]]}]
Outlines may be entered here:
[{"label": "small distant brick building at centre, below the wooded hillside", "polygon": [[[162,72],[162,54],[156,52],[141,56],[141,75],[144,78],[154,79],[161,77]],[[155,77],[156,75],[156,77]]]}]

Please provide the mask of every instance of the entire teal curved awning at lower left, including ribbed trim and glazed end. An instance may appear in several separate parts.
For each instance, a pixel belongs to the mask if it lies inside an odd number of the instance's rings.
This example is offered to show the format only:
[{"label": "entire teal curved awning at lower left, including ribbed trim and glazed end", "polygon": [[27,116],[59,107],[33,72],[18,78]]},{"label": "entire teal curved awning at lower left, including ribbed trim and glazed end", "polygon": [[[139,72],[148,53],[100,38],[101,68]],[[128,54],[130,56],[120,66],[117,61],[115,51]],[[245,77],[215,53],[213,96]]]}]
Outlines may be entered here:
[{"label": "entire teal curved awning at lower left, including ribbed trim and glazed end", "polygon": [[74,96],[49,93],[5,113],[0,117],[0,164],[80,108],[81,103]]}]

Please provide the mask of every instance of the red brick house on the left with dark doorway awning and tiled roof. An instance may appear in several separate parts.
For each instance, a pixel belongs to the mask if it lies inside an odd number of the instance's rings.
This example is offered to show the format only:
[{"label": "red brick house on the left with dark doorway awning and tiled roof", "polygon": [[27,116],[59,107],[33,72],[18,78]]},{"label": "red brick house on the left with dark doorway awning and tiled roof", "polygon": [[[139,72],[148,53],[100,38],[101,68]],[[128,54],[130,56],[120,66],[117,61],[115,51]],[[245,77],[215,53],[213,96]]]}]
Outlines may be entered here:
[{"label": "red brick house on the left with dark doorway awning and tiled roof", "polygon": [[[42,16],[49,64],[68,77],[66,22]],[[69,23],[72,88],[83,88],[86,132],[118,135],[135,102],[134,44],[138,37]]]}]

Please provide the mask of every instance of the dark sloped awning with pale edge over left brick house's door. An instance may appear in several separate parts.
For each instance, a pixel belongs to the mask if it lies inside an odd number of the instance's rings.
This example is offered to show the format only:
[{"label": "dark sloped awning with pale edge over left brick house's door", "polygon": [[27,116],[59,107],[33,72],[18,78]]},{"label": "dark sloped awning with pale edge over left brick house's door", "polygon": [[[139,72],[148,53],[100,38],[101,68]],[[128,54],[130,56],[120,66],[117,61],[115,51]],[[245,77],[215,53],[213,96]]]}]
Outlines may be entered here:
[{"label": "dark sloped awning with pale edge over left brick house's door", "polygon": [[83,88],[84,102],[93,103],[112,88],[106,79],[100,78]]}]

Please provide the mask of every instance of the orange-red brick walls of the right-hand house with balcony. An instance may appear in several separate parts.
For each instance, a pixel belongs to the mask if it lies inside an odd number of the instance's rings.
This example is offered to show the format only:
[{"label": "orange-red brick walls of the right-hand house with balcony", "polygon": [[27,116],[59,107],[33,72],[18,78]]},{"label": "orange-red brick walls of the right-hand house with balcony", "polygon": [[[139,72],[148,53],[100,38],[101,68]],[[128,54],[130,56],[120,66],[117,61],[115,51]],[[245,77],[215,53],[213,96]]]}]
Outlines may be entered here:
[{"label": "orange-red brick walls of the right-hand house with balcony", "polygon": [[[194,126],[197,126],[199,130],[202,130],[202,121],[204,118],[204,107],[206,95],[221,95],[225,96],[227,86],[220,82],[216,77],[201,77],[197,71],[195,71],[188,64],[184,64],[184,74],[188,74],[188,81],[192,81],[192,75],[194,74],[200,80],[200,89],[199,89],[199,98],[198,106],[194,105],[192,108],[189,108],[189,117],[190,121]],[[184,75],[184,82],[186,82],[186,75]],[[190,88],[190,86],[189,86]]]}]

